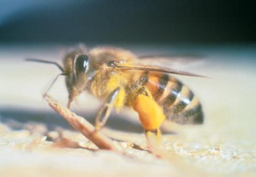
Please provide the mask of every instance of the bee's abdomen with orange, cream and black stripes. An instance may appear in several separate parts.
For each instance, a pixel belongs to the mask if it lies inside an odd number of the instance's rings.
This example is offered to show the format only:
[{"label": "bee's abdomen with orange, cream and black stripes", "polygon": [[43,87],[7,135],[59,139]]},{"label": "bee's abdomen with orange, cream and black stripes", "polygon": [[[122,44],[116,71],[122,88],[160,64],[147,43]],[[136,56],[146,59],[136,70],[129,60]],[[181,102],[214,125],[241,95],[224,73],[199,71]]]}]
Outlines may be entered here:
[{"label": "bee's abdomen with orange, cream and black stripes", "polygon": [[163,107],[168,120],[180,124],[203,123],[201,104],[187,86],[168,74],[146,72],[143,78],[143,85]]}]

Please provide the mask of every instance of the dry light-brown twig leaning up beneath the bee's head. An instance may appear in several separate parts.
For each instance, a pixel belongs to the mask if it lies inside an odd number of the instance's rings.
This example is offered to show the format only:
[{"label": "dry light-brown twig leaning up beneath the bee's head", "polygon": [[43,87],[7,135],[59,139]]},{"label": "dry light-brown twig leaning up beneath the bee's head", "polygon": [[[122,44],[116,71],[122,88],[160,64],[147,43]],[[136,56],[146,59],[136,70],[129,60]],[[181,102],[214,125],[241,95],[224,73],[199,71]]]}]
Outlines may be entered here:
[{"label": "dry light-brown twig leaning up beneath the bee's head", "polygon": [[56,112],[58,112],[64,119],[68,121],[70,125],[72,125],[76,130],[81,132],[87,139],[92,141],[100,149],[118,151],[118,149],[112,143],[112,140],[110,140],[108,137],[104,136],[100,132],[95,132],[95,127],[83,117],[77,116],[68,108],[63,107],[59,102],[53,100],[49,95],[45,95],[45,99]]}]

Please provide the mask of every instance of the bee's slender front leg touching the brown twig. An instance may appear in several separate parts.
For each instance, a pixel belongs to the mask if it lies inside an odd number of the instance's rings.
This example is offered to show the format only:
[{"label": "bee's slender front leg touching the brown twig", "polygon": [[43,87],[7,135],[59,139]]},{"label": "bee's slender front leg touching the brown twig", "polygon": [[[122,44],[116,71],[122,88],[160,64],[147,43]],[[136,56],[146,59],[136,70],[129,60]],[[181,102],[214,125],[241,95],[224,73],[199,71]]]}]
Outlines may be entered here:
[{"label": "bee's slender front leg touching the brown twig", "polygon": [[120,92],[120,87],[117,87],[106,99],[103,107],[100,109],[100,111],[97,114],[96,120],[95,120],[95,131],[98,131],[101,129],[108,120],[111,109],[116,104],[116,98],[118,97],[118,94]]}]

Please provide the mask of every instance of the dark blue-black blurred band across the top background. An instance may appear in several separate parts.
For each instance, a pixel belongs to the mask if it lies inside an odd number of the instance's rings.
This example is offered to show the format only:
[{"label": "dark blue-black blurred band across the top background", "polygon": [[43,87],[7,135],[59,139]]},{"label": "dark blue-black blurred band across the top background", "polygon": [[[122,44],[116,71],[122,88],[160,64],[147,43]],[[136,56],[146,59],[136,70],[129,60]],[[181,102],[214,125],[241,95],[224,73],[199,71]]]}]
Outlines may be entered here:
[{"label": "dark blue-black blurred band across the top background", "polygon": [[[1,3],[1,2],[0,2]],[[246,1],[3,1],[0,42],[255,42]],[[12,8],[13,6],[13,8]]]}]

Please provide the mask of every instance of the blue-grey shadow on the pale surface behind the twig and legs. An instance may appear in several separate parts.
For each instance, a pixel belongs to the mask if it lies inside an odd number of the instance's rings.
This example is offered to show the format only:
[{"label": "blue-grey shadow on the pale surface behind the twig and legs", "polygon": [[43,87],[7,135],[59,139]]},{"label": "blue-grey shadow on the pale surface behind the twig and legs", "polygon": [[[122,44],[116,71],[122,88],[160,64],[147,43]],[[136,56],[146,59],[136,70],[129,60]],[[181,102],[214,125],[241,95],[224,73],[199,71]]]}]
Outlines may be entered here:
[{"label": "blue-grey shadow on the pale surface behind the twig and legs", "polygon": [[[93,113],[78,115],[86,118],[91,124],[94,124],[95,115]],[[0,109],[0,122],[8,125],[10,128],[19,130],[26,123],[42,123],[47,126],[49,131],[55,130],[56,127],[74,130],[69,123],[59,114],[47,111],[34,111],[29,109]],[[107,122],[107,127],[126,132],[142,133],[141,125],[128,121],[124,118],[111,116]]]}]

